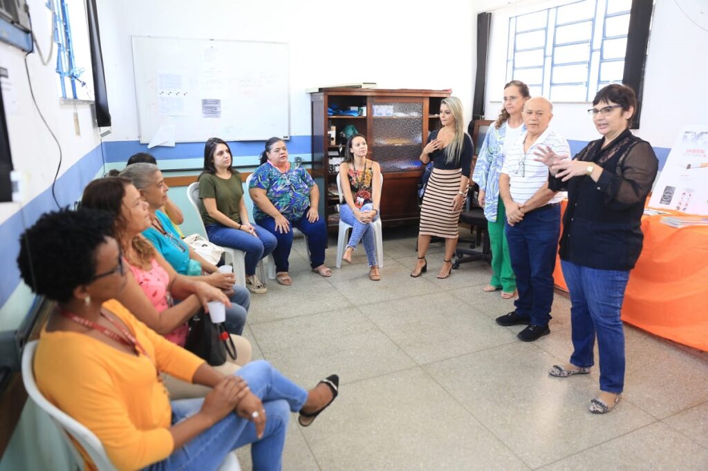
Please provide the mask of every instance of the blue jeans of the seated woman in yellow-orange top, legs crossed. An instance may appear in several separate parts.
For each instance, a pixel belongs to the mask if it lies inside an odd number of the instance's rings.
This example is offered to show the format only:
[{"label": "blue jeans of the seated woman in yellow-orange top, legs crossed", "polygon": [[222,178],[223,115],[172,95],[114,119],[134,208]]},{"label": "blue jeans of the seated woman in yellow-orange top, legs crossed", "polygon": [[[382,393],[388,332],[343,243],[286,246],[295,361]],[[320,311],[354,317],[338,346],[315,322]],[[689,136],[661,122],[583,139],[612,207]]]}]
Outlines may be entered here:
[{"label": "blue jeans of the seated woman in yellow-orange top, legs crossed", "polygon": [[[263,401],[265,431],[260,440],[253,422],[230,413],[209,429],[190,440],[182,448],[173,450],[162,461],[145,467],[145,470],[216,470],[228,453],[253,443],[251,459],[254,470],[280,470],[282,448],[290,412],[298,412],[307,401],[307,391],[270,366],[258,360],[241,367],[236,372],[249,384],[251,392]],[[202,407],[204,399],[172,401],[172,424],[190,417]]]}]

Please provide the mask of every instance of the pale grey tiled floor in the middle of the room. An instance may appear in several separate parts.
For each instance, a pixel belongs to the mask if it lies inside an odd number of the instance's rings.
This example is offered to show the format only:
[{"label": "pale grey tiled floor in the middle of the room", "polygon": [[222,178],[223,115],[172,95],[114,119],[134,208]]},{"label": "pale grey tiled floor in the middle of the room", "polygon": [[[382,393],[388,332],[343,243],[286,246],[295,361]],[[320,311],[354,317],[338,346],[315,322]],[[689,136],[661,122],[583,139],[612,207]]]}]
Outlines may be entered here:
[{"label": "pale grey tiled floor in the middle of the room", "polygon": [[[384,233],[382,281],[360,248],[329,279],[309,271],[296,241],[292,286],[254,295],[244,335],[306,388],[338,373],[338,399],[315,423],[292,416],[285,470],[707,470],[708,355],[625,326],[627,378],[617,409],[588,412],[598,371],[557,379],[571,353],[570,303],[556,293],[551,335],[516,339],[493,321],[513,309],[484,293],[489,267],[409,277],[415,232]],[[336,239],[327,250],[334,267]],[[248,448],[239,450],[251,469]]]}]

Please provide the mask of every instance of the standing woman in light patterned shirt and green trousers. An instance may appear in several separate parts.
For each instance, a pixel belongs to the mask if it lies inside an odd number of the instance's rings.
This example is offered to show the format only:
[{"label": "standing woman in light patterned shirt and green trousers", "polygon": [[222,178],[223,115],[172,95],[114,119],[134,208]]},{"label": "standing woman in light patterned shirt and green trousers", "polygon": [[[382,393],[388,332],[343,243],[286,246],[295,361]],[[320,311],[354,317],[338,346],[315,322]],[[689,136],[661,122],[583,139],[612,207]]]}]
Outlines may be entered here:
[{"label": "standing woman in light patterned shirt and green trousers", "polygon": [[511,268],[509,247],[504,235],[506,209],[499,197],[499,174],[508,144],[526,130],[521,112],[529,97],[529,88],[522,81],[513,80],[504,86],[504,107],[484,137],[472,173],[472,180],[479,185],[479,205],[484,208],[484,216],[489,221],[492,253],[491,281],[482,291],[501,289],[501,297],[504,299],[514,297],[516,277]]}]

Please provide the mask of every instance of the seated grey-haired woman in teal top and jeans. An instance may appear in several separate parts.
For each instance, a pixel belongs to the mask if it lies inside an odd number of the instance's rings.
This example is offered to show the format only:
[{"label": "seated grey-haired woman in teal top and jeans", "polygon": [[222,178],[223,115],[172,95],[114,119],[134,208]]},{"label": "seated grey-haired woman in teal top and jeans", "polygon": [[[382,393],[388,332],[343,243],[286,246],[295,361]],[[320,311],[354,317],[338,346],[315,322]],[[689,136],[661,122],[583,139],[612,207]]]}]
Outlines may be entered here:
[{"label": "seated grey-haired woman in teal top and jeans", "polygon": [[[148,204],[150,227],[143,231],[142,235],[155,246],[176,272],[200,277],[201,281],[227,293],[232,304],[230,308],[226,308],[225,325],[229,333],[241,335],[246,325],[246,313],[251,306],[251,294],[249,290],[235,284],[234,274],[219,273],[215,265],[192,250],[180,238],[169,217],[158,209],[164,206],[169,187],[165,184],[157,165],[134,163],[128,165],[120,176],[130,179]],[[202,272],[205,276],[202,276]]]}]

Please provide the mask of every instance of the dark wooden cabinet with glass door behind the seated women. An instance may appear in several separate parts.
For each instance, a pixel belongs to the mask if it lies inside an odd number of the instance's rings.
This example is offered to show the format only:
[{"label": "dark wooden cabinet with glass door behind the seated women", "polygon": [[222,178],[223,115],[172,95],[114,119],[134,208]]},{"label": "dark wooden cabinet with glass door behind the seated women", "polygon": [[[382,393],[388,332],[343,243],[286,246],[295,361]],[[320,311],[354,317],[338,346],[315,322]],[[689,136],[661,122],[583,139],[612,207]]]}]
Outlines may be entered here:
[{"label": "dark wooden cabinet with glass door behind the seated women", "polygon": [[354,129],[366,136],[368,158],[381,165],[384,225],[418,221],[418,185],[423,175],[419,156],[428,133],[440,126],[440,102],[448,96],[450,90],[377,88],[321,88],[312,93],[312,172],[324,180],[329,227],[338,226],[338,158],[345,134]]}]

